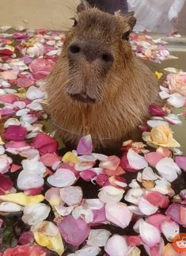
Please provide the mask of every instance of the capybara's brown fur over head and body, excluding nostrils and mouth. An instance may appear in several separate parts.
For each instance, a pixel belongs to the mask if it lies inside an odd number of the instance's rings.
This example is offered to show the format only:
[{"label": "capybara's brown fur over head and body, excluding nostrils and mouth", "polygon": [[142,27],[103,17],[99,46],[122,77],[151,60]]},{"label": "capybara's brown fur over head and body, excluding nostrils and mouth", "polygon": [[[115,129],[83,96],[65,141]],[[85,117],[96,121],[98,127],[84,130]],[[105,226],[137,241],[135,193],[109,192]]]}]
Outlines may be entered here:
[{"label": "capybara's brown fur over head and body, excluding nostrils and mouth", "polygon": [[[51,120],[64,142],[75,147],[81,136],[90,133],[94,147],[113,147],[139,135],[138,126],[148,117],[148,106],[157,100],[158,83],[135,57],[131,44],[122,39],[134,25],[131,15],[115,17],[97,9],[78,14],[78,25],[66,35],[63,52],[47,82]],[[70,63],[67,48],[74,40],[89,46],[90,60],[81,57]],[[105,51],[112,53],[114,61],[104,70],[93,56]],[[69,96],[82,90],[95,103]]]}]

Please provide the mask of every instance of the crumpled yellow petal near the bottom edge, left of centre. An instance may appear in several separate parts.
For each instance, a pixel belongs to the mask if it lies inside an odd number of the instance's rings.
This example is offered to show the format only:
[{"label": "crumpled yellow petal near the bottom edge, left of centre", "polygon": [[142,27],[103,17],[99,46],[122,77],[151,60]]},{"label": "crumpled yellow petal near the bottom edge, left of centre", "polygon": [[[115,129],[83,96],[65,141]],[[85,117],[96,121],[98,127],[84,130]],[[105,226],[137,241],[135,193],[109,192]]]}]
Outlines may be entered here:
[{"label": "crumpled yellow petal near the bottom edge, left of centre", "polygon": [[35,231],[33,232],[33,235],[34,235],[34,239],[36,240],[36,243],[38,243],[40,246],[45,246],[49,250],[53,250],[59,255],[63,254],[64,252],[63,240],[59,232],[58,232],[58,235],[47,236],[47,235],[44,235],[43,232]]}]

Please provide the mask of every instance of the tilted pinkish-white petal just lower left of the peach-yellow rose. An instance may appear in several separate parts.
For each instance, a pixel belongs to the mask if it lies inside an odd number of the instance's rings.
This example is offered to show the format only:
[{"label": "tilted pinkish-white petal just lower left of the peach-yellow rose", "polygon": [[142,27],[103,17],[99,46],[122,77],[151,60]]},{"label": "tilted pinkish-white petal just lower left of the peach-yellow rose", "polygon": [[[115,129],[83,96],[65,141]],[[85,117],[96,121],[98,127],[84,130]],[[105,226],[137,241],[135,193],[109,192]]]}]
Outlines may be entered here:
[{"label": "tilted pinkish-white petal just lower left of the peach-yellow rose", "polygon": [[145,168],[146,166],[148,166],[146,159],[133,150],[129,150],[127,152],[127,160],[129,162],[129,165],[131,166],[131,168],[133,168],[135,170],[141,170],[141,169]]}]

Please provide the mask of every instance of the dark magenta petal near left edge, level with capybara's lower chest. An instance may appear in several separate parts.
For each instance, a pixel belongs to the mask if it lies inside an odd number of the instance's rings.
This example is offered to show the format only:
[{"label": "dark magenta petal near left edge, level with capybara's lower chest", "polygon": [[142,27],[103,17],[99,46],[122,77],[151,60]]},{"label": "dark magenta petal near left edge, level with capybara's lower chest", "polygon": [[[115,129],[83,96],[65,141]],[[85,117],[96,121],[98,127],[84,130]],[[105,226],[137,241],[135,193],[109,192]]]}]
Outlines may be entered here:
[{"label": "dark magenta petal near left edge, level with capybara's lower chest", "polygon": [[26,136],[26,128],[18,125],[9,125],[4,133],[4,139],[6,140],[22,141],[25,140]]}]

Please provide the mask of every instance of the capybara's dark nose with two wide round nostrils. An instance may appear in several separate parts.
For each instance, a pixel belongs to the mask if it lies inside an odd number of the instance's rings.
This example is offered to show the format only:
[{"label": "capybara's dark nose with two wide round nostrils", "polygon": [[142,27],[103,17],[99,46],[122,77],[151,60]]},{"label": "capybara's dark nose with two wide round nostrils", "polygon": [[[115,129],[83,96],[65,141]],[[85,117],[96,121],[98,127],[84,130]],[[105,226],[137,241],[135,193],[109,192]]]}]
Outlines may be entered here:
[{"label": "capybara's dark nose with two wide round nostrils", "polygon": [[105,66],[110,66],[114,57],[111,52],[100,48],[97,45],[89,44],[85,41],[77,41],[72,44],[67,49],[67,56],[70,60],[80,59],[85,57],[89,62],[92,62],[95,59],[100,59]]}]

